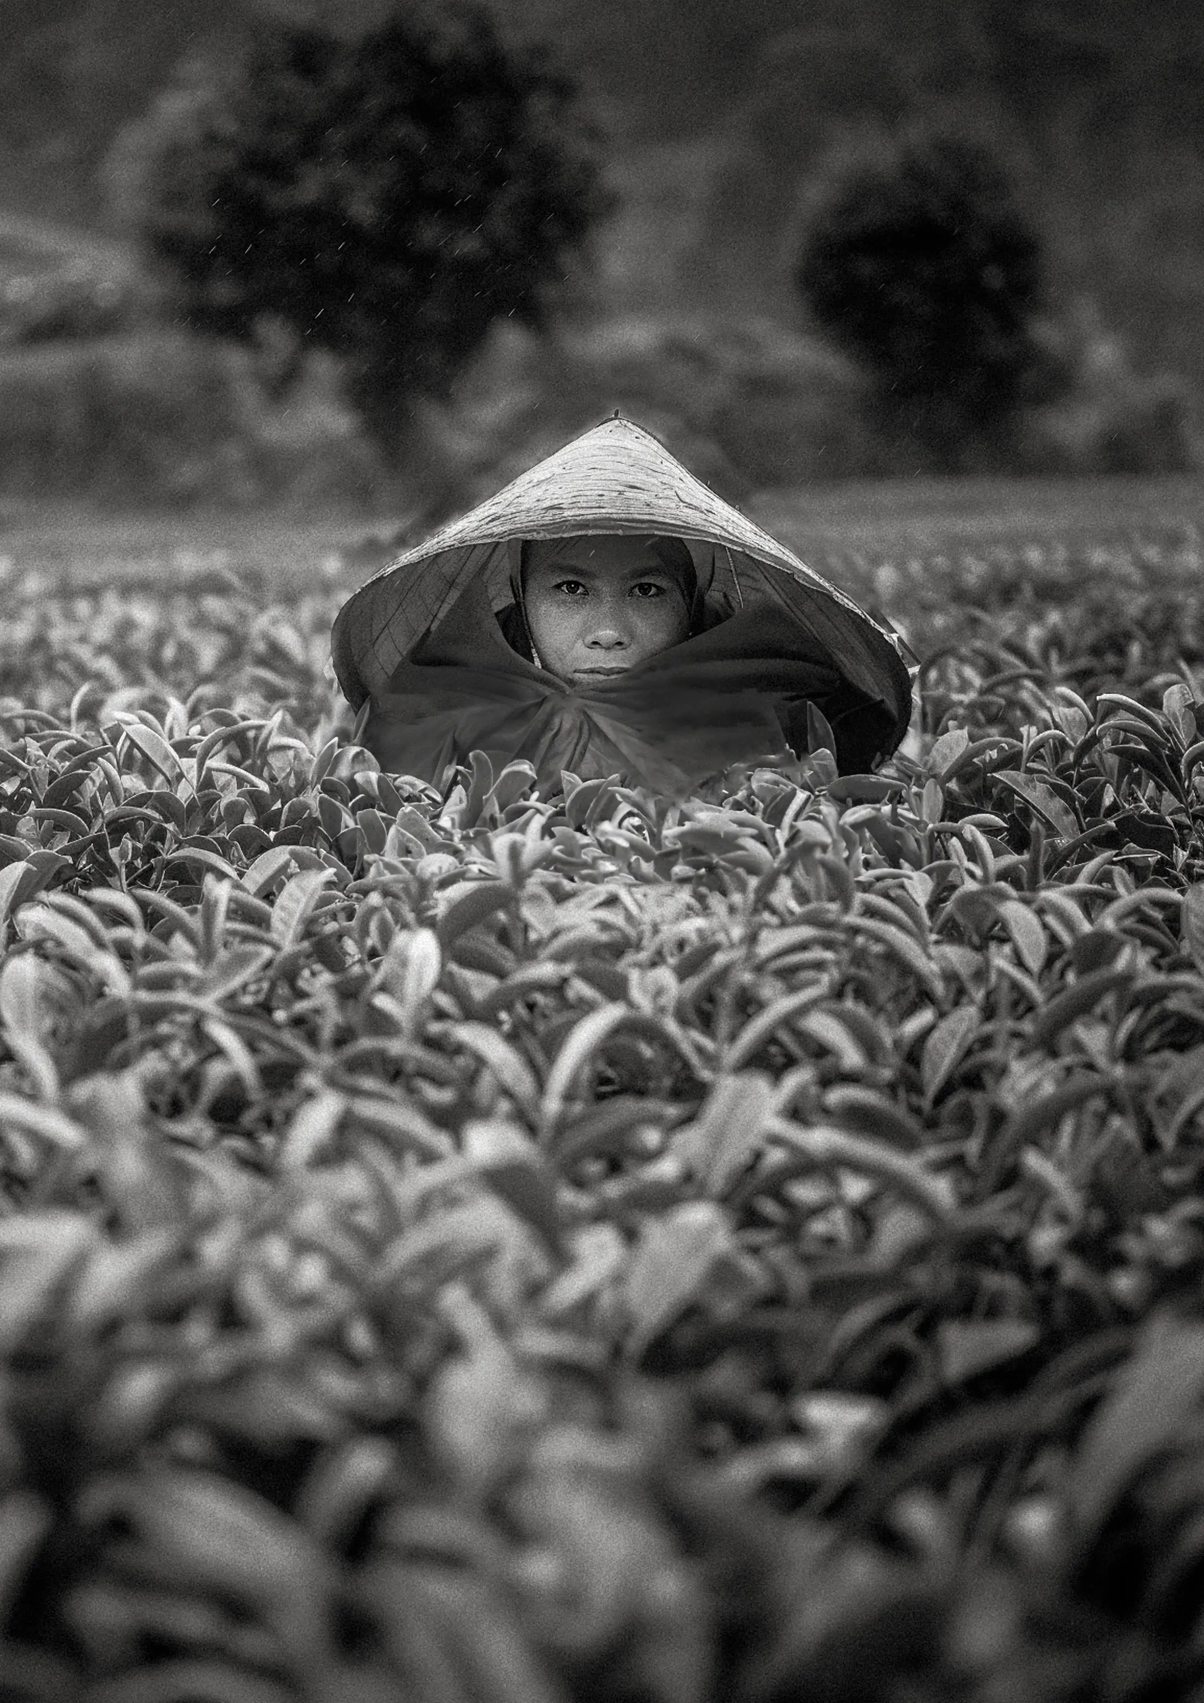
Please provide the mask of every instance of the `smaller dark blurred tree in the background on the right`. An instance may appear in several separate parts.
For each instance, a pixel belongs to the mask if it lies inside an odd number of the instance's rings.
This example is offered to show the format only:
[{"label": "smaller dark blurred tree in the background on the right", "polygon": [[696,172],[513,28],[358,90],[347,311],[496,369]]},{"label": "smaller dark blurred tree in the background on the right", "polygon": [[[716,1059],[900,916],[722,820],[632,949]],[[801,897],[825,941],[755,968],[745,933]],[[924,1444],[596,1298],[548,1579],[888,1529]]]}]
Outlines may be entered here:
[{"label": "smaller dark blurred tree in the background on the right", "polygon": [[1042,322],[1042,245],[981,146],[903,141],[821,194],[795,283],[875,376],[894,429],[949,470],[998,462],[1068,381]]}]

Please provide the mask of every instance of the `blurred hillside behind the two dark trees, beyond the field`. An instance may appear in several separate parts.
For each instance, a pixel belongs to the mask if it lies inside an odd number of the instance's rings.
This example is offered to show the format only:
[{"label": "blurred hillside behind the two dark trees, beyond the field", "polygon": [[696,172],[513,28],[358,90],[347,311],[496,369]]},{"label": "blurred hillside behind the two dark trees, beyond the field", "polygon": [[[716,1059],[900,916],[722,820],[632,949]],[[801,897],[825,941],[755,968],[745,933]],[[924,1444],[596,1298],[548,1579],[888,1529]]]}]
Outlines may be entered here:
[{"label": "blurred hillside behind the two dark trees, beyond the field", "polygon": [[[1059,335],[1075,347],[1075,395],[1042,426],[1032,465],[1006,472],[1199,465],[1195,0],[497,0],[506,31],[548,41],[579,80],[616,208],[557,334],[499,334],[455,407],[429,410],[424,450],[402,470],[381,470],[359,441],[322,363],[279,409],[232,351],[201,353],[172,329],[170,305],[141,276],[124,201],[155,102],[237,51],[264,14],[354,32],[385,10],[381,0],[5,0],[9,305],[75,266],[107,269],[126,307],[112,322],[100,315],[90,337],[75,325],[70,339],[0,347],[0,400],[17,422],[0,427],[0,489],[186,502],[307,492],[397,507],[424,485],[438,507],[613,405],[662,429],[732,494],[925,470],[906,443],[865,433],[857,373],[807,324],[790,281],[833,162],[916,123],[981,136],[1006,163],[1046,238]],[[129,451],[135,417],[155,426]],[[238,433],[257,434],[259,450]]]}]

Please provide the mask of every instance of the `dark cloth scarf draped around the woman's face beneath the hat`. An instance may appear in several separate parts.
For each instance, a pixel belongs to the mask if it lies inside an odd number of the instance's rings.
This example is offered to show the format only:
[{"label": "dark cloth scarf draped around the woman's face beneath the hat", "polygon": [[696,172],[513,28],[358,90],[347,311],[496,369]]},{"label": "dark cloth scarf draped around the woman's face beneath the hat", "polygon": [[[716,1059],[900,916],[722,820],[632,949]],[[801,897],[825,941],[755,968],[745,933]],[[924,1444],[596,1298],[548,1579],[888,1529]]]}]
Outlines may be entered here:
[{"label": "dark cloth scarf draped around the woman's face beneath the hat", "polygon": [[514,540],[514,601],[494,615],[479,579],[460,593],[373,700],[368,749],[387,770],[434,783],[482,749],[496,766],[530,761],[545,792],[569,771],[683,797],[737,763],[804,754],[807,703],[816,703],[836,734],[840,766],[869,768],[889,712],[841,676],[823,642],[777,606],[708,605],[712,574],[698,574],[685,543],[657,538],[654,548],[688,593],[690,632],[679,644],[611,679],[560,681],[531,647]]}]

